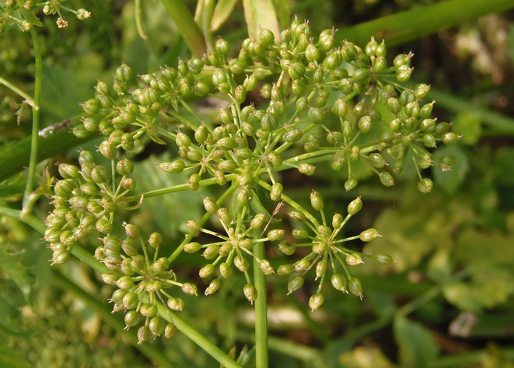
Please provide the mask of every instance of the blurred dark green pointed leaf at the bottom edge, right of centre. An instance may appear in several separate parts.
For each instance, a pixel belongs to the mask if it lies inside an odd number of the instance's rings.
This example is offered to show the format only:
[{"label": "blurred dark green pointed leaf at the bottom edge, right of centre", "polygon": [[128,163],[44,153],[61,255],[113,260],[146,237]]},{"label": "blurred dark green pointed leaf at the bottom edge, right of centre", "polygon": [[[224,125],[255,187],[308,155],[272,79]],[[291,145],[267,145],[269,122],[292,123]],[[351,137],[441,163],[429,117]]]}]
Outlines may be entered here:
[{"label": "blurred dark green pointed leaf at the bottom edge, right of centre", "polygon": [[398,315],[393,329],[399,347],[400,366],[422,368],[437,357],[434,338],[423,325]]}]

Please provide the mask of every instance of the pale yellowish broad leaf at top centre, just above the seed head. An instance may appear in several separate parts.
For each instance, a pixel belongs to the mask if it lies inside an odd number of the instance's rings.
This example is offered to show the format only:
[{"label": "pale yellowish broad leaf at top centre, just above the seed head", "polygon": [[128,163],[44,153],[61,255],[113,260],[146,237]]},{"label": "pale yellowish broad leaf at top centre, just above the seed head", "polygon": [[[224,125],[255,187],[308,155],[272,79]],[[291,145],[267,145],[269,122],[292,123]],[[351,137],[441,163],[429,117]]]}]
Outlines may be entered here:
[{"label": "pale yellowish broad leaf at top centre, just above the seed head", "polygon": [[243,0],[243,6],[250,37],[256,37],[260,28],[267,28],[273,32],[275,39],[278,39],[280,28],[271,0]]}]

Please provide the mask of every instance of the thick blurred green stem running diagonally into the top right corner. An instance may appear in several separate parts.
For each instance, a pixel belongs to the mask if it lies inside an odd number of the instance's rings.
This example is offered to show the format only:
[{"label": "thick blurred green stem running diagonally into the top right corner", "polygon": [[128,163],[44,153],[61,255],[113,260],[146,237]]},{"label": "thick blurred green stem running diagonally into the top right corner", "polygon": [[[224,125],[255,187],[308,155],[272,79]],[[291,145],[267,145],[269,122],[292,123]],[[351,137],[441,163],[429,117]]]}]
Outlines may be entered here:
[{"label": "thick blurred green stem running diagonally into the top right corner", "polygon": [[339,27],[335,41],[337,44],[346,39],[364,46],[374,36],[377,40],[386,40],[388,46],[397,45],[513,7],[514,0],[448,0],[382,16],[352,27]]}]

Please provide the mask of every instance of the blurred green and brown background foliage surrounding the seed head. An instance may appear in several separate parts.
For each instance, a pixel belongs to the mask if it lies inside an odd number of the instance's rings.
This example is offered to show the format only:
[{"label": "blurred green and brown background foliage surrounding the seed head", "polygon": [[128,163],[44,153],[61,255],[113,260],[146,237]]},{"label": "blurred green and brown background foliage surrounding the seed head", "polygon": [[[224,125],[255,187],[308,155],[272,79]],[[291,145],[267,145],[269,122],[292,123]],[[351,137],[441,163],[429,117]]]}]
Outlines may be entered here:
[{"label": "blurred green and brown background foliage surrounding the seed head", "polygon": [[[79,1],[68,3],[75,8],[86,6]],[[196,2],[185,3],[194,12]],[[235,3],[228,21],[215,32],[231,42],[232,49],[247,37],[242,2]],[[289,14],[296,14],[308,19],[315,33],[332,25],[343,32],[361,22],[433,4],[429,0],[274,3],[281,7],[282,27],[289,24]],[[144,74],[158,65],[176,66],[178,58],[190,56],[163,5],[148,1],[141,6],[147,40],[136,28],[133,1],[90,1],[90,19],[70,21],[65,29],[58,29],[52,17],[43,17],[45,27],[38,29],[43,53],[43,126],[80,113],[78,102],[93,95],[98,79],[111,81],[121,60],[135,73]],[[2,77],[30,93],[34,66],[28,33],[7,27],[0,40]],[[376,180],[366,181],[371,173],[361,170],[359,186],[351,192],[342,189],[345,178],[328,167],[319,167],[323,175],[308,180],[283,173],[282,181],[294,189],[293,198],[299,203],[313,187],[329,199],[327,211],[345,208],[349,200],[362,196],[363,211],[352,218],[346,231],[353,234],[375,227],[382,238],[367,244],[365,252],[388,253],[398,262],[391,266],[366,262],[355,271],[364,287],[364,300],[341,297],[327,289],[325,304],[315,313],[305,308],[308,287],[286,296],[287,281],[268,277],[270,366],[512,367],[514,105],[509,101],[514,100],[514,13],[484,15],[388,46],[388,50],[389,55],[414,52],[413,78],[431,84],[430,98],[437,100],[435,115],[440,121],[452,121],[453,131],[464,135],[456,146],[440,148],[445,150],[440,155],[452,154],[458,163],[450,172],[433,172],[435,186],[428,195],[416,190],[416,183],[410,180],[414,168],[408,165],[392,188],[380,186]],[[259,96],[252,98],[259,103]],[[0,88],[3,145],[30,135],[30,111],[17,111],[20,102],[19,97]],[[199,102],[196,108],[212,114],[209,101]],[[81,147],[95,150],[94,146],[92,141]],[[56,160],[76,160],[76,151],[63,152]],[[154,167],[174,154],[149,145],[136,165]],[[47,165],[53,174],[56,168],[51,162]],[[135,178],[140,189],[175,184],[163,171],[154,172]],[[3,206],[16,208],[20,197],[9,189],[15,184],[16,179],[11,178],[9,185],[1,186]],[[44,218],[46,202],[38,202],[36,216]],[[174,249],[186,221],[199,218],[201,211],[201,197],[188,192],[149,199],[143,211],[127,213],[126,218],[142,230],[158,229]],[[51,252],[40,238],[30,227],[2,217],[0,366],[153,366],[148,352],[134,348],[131,334],[124,334],[120,324],[116,325],[122,323],[120,316],[105,323],[111,287],[79,261],[50,270]],[[276,256],[278,265],[281,259]],[[201,285],[196,279],[198,264],[195,257],[186,255],[181,269],[175,271]],[[59,273],[80,289],[66,286]],[[181,314],[234,356],[252,346],[252,309],[242,295],[232,291],[244,283],[230,278],[214,296],[188,297],[186,303],[191,307]],[[94,297],[87,300],[84,294]],[[170,366],[217,366],[187,338],[147,344],[171,362]]]}]

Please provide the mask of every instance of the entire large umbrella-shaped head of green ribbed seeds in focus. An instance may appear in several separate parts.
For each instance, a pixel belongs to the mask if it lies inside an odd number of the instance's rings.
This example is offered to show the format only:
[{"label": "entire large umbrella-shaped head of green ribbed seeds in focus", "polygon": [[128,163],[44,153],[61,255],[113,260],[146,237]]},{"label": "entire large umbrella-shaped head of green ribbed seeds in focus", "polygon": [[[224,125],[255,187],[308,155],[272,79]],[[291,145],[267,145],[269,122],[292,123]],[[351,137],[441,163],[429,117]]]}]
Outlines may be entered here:
[{"label": "entire large umbrella-shaped head of green ribbed seeds in focus", "polygon": [[[306,22],[295,20],[279,41],[271,31],[261,29],[234,53],[227,41],[218,39],[203,58],[179,60],[176,68],[160,67],[137,78],[122,63],[112,86],[98,82],[95,97],[82,104],[85,114],[74,133],[85,137],[100,132],[104,140],[98,150],[112,161],[112,170],[109,173],[95,165],[89,152],[81,152],[80,169],[60,165],[63,180],[55,186],[56,209],[47,218],[45,239],[58,263],[67,259],[72,244],[86,233],[96,230],[104,235],[95,256],[113,270],[103,278],[119,288],[112,300],[115,310],[127,311],[127,327],[145,318],[138,332],[140,341],[150,335],[174,334],[173,324],[164,326],[157,306],[162,302],[169,312],[182,309],[183,302],[164,288],[179,286],[196,294],[196,287],[178,283],[168,271],[183,251],[201,250],[210,261],[199,271],[201,278],[214,276],[206,295],[218,290],[235,266],[246,277],[243,292],[250,302],[258,295],[248,272],[249,260],[255,260],[264,274],[292,275],[289,293],[300,288],[304,275],[315,268],[320,283],[309,301],[313,310],[323,303],[321,289],[327,269],[332,269],[330,278],[336,289],[362,297],[362,286],[348,266],[362,263],[363,257],[381,264],[392,262],[388,255],[369,256],[342,247],[345,241],[378,237],[374,229],[337,238],[346,221],[361,208],[360,198],[348,205],[345,218],[335,214],[328,224],[323,199],[313,191],[311,205],[320,212],[320,223],[284,194],[287,188],[280,182],[281,171],[294,168],[311,176],[316,172],[314,164],[325,161],[336,171],[347,170],[344,187],[351,190],[357,185],[352,167],[359,161],[376,172],[383,185],[391,186],[393,174],[401,172],[403,162],[411,157],[419,190],[429,192],[433,183],[423,178],[421,170],[434,164],[449,170],[455,163],[452,156],[438,158],[431,152],[438,142],[451,144],[459,137],[449,131],[450,124],[430,117],[434,102],[422,100],[429,86],[402,85],[412,74],[412,54],[398,55],[388,66],[383,42],[372,39],[364,49],[347,41],[335,45],[334,32],[324,30],[316,39]],[[264,98],[262,106],[248,101],[248,93],[254,90]],[[222,107],[217,120],[204,118],[191,106],[192,100],[201,97],[219,100]],[[161,163],[159,169],[189,173],[187,183],[164,188],[163,194],[208,185],[225,190],[216,201],[204,198],[206,214],[187,223],[189,234],[168,258],[157,258],[160,236],[152,234],[148,240],[150,248],[155,248],[152,260],[147,242],[135,226],[125,224],[124,240],[111,234],[116,207],[133,208],[128,201],[142,199],[125,197],[134,184],[126,177],[133,165],[123,158],[124,151],[137,152],[150,141],[178,147],[179,157]],[[122,176],[119,181],[114,178],[115,171]],[[224,206],[227,202],[230,205]],[[278,203],[275,211],[267,202]],[[289,213],[292,218],[303,221],[314,233],[293,230],[292,237],[303,243],[284,240],[283,229],[268,231],[284,204],[295,210]],[[211,216],[217,217],[224,234],[207,229]],[[192,241],[198,232],[217,239],[208,244]],[[275,270],[268,260],[252,252],[256,244],[270,242],[289,256],[298,247],[310,247],[311,252]]]}]

